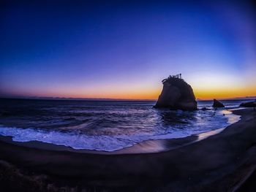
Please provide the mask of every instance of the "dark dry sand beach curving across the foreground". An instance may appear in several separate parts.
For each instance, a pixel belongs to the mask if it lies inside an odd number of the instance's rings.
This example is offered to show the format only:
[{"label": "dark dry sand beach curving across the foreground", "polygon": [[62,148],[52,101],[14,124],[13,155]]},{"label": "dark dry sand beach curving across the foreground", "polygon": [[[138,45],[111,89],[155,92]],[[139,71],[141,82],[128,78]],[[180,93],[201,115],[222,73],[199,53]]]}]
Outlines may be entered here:
[{"label": "dark dry sand beach curving across the foreground", "polygon": [[241,120],[221,133],[162,153],[77,153],[1,138],[0,191],[256,191],[256,112],[234,113]]}]

